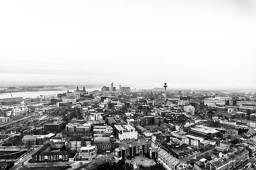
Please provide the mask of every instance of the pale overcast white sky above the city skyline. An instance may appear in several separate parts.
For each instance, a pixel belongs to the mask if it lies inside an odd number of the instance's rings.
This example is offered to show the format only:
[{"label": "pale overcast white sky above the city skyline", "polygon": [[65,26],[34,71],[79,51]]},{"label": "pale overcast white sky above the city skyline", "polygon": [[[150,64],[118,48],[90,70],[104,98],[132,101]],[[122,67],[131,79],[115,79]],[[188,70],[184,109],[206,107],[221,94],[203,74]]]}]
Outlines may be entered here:
[{"label": "pale overcast white sky above the city skyline", "polygon": [[0,85],[256,87],[256,0],[3,0]]}]

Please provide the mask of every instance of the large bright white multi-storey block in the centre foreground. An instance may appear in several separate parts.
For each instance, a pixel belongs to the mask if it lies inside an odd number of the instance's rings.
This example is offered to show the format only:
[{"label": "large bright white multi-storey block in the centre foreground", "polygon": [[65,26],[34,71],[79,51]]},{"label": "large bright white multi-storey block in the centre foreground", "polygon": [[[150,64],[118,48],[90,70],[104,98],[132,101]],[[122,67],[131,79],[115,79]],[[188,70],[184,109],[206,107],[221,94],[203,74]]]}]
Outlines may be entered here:
[{"label": "large bright white multi-storey block in the centre foreground", "polygon": [[138,139],[138,132],[131,125],[114,125],[119,140]]}]

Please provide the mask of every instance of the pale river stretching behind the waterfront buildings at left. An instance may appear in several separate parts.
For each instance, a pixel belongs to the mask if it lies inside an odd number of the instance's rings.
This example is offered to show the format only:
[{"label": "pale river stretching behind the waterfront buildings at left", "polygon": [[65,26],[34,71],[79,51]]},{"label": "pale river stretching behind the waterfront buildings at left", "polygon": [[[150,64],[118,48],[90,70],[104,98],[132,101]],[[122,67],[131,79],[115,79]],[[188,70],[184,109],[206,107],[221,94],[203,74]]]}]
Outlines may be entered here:
[{"label": "pale river stretching behind the waterfront buildings at left", "polygon": [[[101,90],[101,88],[86,88],[86,91],[90,92],[93,90]],[[69,90],[74,92],[74,90]],[[37,92],[30,92],[30,91],[26,91],[26,92],[12,92],[12,93],[3,93],[0,94],[0,99],[2,98],[11,98],[13,95],[13,97],[40,97],[40,95],[57,95],[59,93],[64,93],[67,92],[67,90],[52,90],[52,91],[37,91]]]}]

